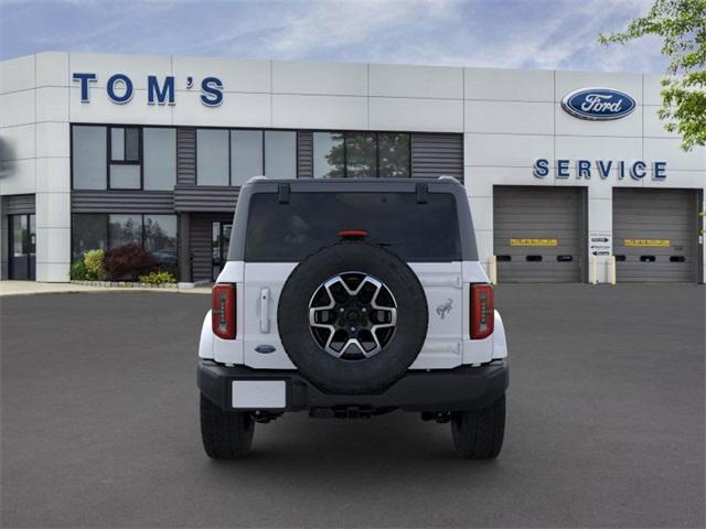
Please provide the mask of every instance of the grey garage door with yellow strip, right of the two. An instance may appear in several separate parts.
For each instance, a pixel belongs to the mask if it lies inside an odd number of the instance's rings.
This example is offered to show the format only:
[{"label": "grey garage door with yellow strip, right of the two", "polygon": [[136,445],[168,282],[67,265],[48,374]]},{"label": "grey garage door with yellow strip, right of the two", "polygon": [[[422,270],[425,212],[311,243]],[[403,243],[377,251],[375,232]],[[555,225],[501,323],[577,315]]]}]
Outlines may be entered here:
[{"label": "grey garage door with yellow strip, right of the two", "polygon": [[698,281],[694,190],[613,190],[613,255],[619,282]]}]

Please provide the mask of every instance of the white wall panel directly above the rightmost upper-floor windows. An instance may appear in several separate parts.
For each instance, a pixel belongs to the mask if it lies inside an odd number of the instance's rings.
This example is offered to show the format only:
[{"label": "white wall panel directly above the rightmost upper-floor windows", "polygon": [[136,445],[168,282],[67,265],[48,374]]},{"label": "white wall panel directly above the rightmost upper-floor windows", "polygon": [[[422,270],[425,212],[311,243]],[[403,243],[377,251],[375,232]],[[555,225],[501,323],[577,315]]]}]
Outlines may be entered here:
[{"label": "white wall panel directly above the rightmost upper-floor windows", "polygon": [[372,130],[462,132],[463,101],[371,97]]}]

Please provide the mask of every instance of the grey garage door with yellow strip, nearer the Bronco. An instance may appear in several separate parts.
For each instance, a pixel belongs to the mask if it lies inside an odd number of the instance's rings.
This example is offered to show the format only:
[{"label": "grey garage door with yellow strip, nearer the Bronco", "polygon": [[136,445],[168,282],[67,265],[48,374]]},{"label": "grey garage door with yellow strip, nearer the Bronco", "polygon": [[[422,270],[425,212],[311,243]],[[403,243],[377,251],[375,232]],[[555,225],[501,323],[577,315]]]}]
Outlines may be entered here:
[{"label": "grey garage door with yellow strip, nearer the Bronco", "polygon": [[581,282],[581,187],[493,188],[494,252],[500,282]]}]

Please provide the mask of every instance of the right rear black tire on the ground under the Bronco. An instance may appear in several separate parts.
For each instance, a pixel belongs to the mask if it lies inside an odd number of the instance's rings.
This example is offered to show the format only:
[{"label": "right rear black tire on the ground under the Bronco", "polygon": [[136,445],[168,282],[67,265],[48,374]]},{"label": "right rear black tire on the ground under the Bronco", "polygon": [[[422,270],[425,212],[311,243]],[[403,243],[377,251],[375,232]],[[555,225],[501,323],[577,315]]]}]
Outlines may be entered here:
[{"label": "right rear black tire on the ground under the Bronco", "polygon": [[451,415],[456,453],[468,460],[498,457],[505,436],[505,395],[486,408]]}]

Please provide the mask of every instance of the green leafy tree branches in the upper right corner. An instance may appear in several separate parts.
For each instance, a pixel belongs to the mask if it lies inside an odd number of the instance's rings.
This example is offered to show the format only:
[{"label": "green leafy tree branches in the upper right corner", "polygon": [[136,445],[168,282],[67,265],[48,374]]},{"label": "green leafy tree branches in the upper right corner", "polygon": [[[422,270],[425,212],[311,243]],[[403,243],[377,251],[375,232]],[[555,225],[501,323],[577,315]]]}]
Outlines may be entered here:
[{"label": "green leafy tree branches in the upper right corner", "polygon": [[684,150],[706,144],[706,0],[656,0],[648,14],[599,42],[645,35],[662,37],[662,54],[670,57],[659,110],[665,129],[681,134]]}]

